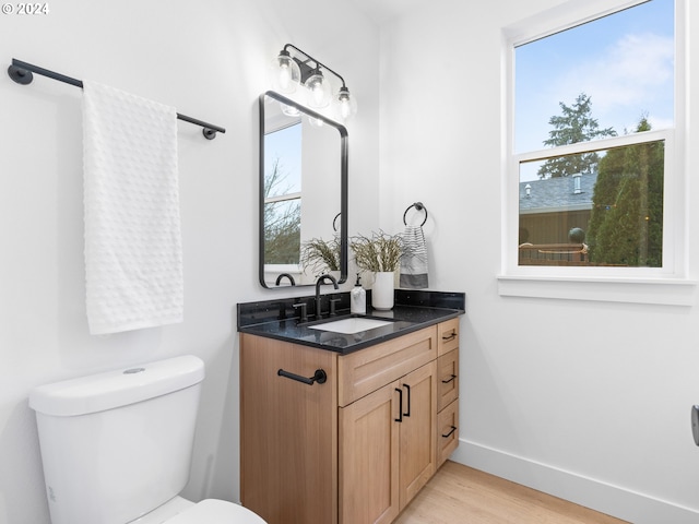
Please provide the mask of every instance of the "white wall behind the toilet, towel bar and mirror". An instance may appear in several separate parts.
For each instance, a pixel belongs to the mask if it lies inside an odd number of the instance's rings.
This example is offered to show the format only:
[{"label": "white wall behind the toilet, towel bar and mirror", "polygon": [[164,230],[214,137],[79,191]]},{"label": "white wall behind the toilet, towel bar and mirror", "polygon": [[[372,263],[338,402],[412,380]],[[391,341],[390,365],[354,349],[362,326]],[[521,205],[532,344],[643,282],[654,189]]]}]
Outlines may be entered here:
[{"label": "white wall behind the toilet, towel bar and mirror", "polygon": [[[238,500],[235,306],[273,298],[258,284],[258,109],[266,66],[293,43],[341,72],[362,112],[348,124],[352,198],[378,176],[378,28],[324,0],[49,2],[1,15],[0,524],[48,524],[32,388],[181,354],[206,362],[192,499]],[[11,58],[174,105],[227,129],[206,141],[179,123],[185,322],[105,337],[84,308],[81,92]],[[351,227],[378,222],[367,198]],[[303,291],[297,291],[301,294]],[[308,294],[305,291],[303,294]]]}]

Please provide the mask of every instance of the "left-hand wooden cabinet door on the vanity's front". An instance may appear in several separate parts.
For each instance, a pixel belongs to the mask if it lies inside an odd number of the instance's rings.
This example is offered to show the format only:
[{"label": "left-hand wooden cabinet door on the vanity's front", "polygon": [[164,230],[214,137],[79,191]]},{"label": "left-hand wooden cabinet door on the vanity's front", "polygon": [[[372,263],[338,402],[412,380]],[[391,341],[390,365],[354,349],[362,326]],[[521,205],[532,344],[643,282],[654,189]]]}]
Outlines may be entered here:
[{"label": "left-hand wooden cabinet door on the vanity's front", "polygon": [[399,514],[399,385],[339,408],[340,524],[390,523]]}]

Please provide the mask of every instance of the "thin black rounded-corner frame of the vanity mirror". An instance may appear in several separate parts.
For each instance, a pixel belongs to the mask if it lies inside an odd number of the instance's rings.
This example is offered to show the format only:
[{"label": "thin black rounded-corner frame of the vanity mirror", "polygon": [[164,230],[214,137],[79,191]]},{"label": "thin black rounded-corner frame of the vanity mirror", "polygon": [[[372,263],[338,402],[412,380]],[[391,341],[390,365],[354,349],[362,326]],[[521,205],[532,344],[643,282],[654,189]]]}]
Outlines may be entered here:
[{"label": "thin black rounded-corner frame of the vanity mirror", "polygon": [[[266,289],[288,289],[284,287],[270,287],[264,282],[264,98],[269,96],[282,104],[294,107],[300,112],[311,118],[321,120],[323,123],[335,128],[340,132],[340,278],[337,284],[347,281],[347,188],[348,188],[348,141],[347,129],[341,123],[330,120],[329,118],[297,104],[274,91],[268,91],[260,95],[260,132],[259,132],[259,279],[262,287]],[[312,284],[304,284],[311,286]],[[300,287],[300,286],[299,286]]]}]

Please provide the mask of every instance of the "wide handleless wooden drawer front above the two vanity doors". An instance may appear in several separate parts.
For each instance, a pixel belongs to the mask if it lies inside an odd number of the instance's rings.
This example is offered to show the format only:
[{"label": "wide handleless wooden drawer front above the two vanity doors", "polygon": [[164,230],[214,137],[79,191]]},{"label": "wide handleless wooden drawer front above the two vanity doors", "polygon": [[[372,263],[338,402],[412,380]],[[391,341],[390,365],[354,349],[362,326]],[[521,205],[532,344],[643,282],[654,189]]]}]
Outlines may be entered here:
[{"label": "wide handleless wooden drawer front above the two vanity doors", "polygon": [[346,406],[437,358],[437,326],[408,333],[337,359],[337,401]]}]

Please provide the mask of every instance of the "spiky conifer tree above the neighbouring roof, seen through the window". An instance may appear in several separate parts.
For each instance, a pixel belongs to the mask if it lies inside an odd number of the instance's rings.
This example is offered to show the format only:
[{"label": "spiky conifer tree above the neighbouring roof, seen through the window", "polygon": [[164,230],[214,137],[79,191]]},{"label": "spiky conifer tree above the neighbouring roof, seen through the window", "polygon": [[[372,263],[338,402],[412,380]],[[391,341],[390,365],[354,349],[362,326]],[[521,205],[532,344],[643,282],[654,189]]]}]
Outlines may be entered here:
[{"label": "spiky conifer tree above the neighbouring roof, seen through the window", "polygon": [[[581,93],[572,106],[562,102],[561,115],[550,117],[548,123],[554,127],[548,132],[549,139],[544,145],[555,147],[560,145],[587,142],[600,136],[616,136],[613,128],[600,129],[600,123],[592,118],[592,99]],[[569,177],[576,172],[593,172],[600,162],[596,153],[583,153],[578,155],[559,156],[546,160],[536,172],[541,179],[555,177]]]}]

